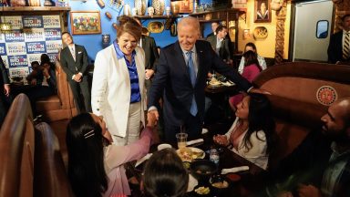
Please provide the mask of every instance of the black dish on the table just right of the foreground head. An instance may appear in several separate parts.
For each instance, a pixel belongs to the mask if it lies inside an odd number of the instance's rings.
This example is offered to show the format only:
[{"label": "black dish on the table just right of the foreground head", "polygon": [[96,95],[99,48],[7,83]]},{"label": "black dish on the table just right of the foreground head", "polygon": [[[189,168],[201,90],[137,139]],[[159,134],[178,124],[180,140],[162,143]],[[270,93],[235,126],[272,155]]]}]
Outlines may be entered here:
[{"label": "black dish on the table just right of the foreground head", "polygon": [[200,184],[205,184],[218,171],[216,164],[207,160],[196,160],[190,163],[190,173]]}]

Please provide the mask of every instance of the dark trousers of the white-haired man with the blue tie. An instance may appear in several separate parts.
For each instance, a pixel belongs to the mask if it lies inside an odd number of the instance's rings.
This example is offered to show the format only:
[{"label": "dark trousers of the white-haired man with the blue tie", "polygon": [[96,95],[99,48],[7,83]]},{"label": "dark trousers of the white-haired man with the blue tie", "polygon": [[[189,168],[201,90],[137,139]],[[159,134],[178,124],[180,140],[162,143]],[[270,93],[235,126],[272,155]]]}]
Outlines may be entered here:
[{"label": "dark trousers of the white-haired man with the blue tie", "polygon": [[189,136],[187,140],[196,140],[201,138],[201,128],[203,122],[197,115],[193,117],[189,114],[186,119],[183,119],[183,125],[171,125],[170,121],[164,117],[164,140],[169,143],[175,143],[176,133],[179,133],[181,128],[183,132],[186,132]]}]

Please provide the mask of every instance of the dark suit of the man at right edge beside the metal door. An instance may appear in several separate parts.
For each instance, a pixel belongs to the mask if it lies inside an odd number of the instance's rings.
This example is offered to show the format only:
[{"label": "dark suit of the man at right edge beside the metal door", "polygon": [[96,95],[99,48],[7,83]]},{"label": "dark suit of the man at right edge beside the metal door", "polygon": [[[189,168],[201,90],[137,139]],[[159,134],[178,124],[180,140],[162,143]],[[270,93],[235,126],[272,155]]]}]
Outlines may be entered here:
[{"label": "dark suit of the man at right edge beside the metal door", "polygon": [[331,64],[337,61],[350,61],[350,57],[343,59],[343,30],[331,36],[327,53],[328,62]]}]

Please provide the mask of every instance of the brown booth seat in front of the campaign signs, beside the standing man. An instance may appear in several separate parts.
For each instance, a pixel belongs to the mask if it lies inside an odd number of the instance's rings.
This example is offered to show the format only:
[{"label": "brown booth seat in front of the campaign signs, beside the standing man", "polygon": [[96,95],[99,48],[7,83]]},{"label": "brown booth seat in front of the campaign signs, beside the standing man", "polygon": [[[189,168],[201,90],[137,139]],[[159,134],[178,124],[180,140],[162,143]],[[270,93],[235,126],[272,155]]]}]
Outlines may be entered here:
[{"label": "brown booth seat in front of the campaign signs, beside the standing man", "polygon": [[71,119],[77,115],[72,90],[67,82],[67,75],[59,61],[56,62],[57,95],[36,101],[36,111],[47,121]]}]

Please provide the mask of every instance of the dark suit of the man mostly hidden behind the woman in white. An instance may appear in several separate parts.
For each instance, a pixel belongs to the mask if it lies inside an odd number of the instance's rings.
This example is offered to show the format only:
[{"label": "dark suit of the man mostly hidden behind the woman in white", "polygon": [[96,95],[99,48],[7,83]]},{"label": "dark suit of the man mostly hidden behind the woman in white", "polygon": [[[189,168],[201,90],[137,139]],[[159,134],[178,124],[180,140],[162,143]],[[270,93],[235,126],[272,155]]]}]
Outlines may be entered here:
[{"label": "dark suit of the man mostly hidden behind the woman in white", "polygon": [[[160,58],[158,54],[156,41],[151,36],[141,36],[141,46],[145,51],[146,69],[152,69],[156,71],[156,64]],[[150,87],[150,79],[146,79],[146,89]]]}]

